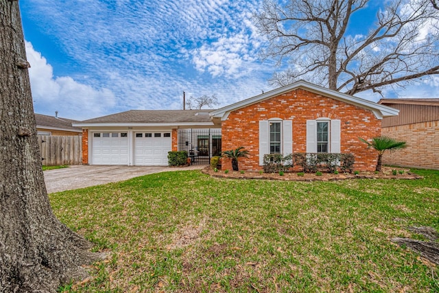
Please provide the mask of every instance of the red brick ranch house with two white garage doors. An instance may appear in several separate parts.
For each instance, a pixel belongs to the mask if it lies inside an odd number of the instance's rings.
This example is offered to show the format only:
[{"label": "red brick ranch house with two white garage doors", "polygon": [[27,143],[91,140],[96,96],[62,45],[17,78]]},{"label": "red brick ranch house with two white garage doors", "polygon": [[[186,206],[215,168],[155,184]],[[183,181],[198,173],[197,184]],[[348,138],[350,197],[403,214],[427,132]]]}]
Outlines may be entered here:
[{"label": "red brick ranch house with two white garage doors", "polygon": [[[85,164],[167,165],[170,150],[195,146],[200,153],[204,145],[210,157],[215,144],[222,151],[244,146],[250,152],[239,161],[244,170],[261,170],[270,152],[321,151],[352,153],[355,169],[373,171],[377,154],[358,137],[379,136],[383,117],[398,112],[298,81],[217,110],[131,110],[73,125],[83,128]],[[193,131],[203,129],[209,134]],[[318,141],[318,132],[327,139]],[[223,169],[231,169],[230,161]]]}]

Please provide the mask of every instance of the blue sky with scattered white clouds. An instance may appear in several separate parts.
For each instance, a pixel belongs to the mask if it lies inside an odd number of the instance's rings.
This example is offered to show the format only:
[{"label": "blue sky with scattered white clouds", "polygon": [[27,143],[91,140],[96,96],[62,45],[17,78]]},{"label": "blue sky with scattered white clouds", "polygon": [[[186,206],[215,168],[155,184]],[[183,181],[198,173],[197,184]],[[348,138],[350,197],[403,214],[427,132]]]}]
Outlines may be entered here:
[{"label": "blue sky with scattered white clouds", "polygon": [[[22,0],[36,113],[88,119],[130,109],[181,109],[186,96],[216,94],[219,106],[272,87],[275,62],[246,0]],[[361,34],[377,3],[358,14]],[[366,32],[364,32],[366,33]],[[386,97],[439,97],[439,78],[425,78]],[[372,101],[380,96],[360,93]]]}]

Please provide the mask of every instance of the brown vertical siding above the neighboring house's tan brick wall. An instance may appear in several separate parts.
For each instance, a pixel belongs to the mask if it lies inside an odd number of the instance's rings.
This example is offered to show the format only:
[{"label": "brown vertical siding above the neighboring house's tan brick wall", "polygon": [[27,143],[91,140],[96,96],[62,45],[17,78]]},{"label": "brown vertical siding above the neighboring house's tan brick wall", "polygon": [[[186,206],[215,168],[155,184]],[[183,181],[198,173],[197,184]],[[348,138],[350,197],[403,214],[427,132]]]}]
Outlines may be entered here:
[{"label": "brown vertical siding above the neighboring house's tan brick wall", "polygon": [[383,118],[383,127],[439,120],[439,106],[385,104],[399,110],[398,116]]}]

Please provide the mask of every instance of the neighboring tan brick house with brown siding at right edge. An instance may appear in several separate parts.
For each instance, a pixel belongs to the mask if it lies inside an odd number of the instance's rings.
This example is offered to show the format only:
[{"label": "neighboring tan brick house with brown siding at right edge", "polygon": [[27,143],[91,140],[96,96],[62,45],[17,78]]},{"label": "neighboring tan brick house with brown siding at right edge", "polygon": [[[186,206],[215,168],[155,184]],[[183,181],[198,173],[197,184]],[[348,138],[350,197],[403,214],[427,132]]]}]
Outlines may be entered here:
[{"label": "neighboring tan brick house with brown siding at right edge", "polygon": [[439,169],[439,99],[381,99],[379,104],[399,110],[383,119],[382,134],[405,141],[407,148],[387,152],[383,163]]}]

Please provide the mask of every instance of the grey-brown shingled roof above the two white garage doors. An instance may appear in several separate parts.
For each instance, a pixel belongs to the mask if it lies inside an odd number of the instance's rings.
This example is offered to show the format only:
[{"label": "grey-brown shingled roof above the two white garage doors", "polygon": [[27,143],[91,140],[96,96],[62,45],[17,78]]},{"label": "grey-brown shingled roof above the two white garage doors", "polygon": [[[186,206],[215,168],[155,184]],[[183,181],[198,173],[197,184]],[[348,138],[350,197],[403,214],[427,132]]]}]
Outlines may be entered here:
[{"label": "grey-brown shingled roof above the two white garage doors", "polygon": [[78,121],[75,126],[93,124],[211,124],[212,110],[128,110],[126,112]]}]

